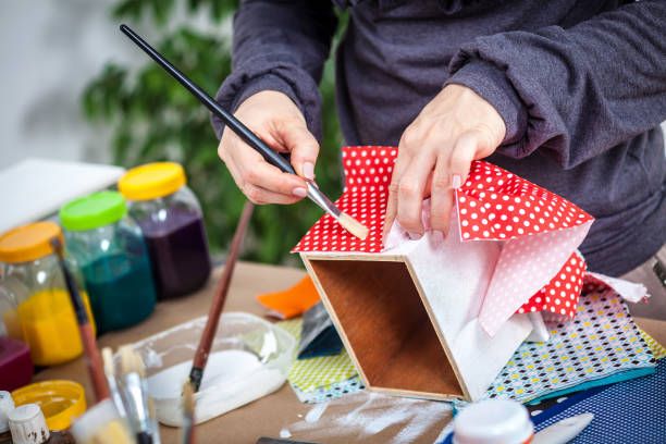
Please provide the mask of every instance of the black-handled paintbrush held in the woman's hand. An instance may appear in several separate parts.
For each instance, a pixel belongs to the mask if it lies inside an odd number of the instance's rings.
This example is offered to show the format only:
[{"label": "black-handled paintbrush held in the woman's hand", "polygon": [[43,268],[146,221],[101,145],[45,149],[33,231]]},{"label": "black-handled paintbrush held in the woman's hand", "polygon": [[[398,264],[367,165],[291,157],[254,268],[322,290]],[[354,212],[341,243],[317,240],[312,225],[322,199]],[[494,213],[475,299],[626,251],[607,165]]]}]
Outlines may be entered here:
[{"label": "black-handled paintbrush held in the woman's hand", "polygon": [[[238,137],[247,145],[257,150],[263,159],[270,164],[279,168],[281,171],[296,175],[296,171],[279,152],[271,149],[261,138],[252,133],[234,115],[226,112],[217,101],[214,101],[203,89],[192,82],[185,74],[173,66],[162,54],[148,45],[138,34],[132,30],[127,25],[120,26],[121,32],[134,41],[140,49],[144,50],[152,60],[157,62],[164,71],[173,78],[183,85],[193,96],[195,96],[203,106],[206,106],[213,114],[220,118],[224,124],[230,127]],[[308,187],[308,197],[317,203],[322,210],[331,214],[345,230],[349,233],[365,239],[368,236],[368,227],[362,225],[349,214],[342,212],[332,201],[324,195],[313,181],[306,180]]]}]

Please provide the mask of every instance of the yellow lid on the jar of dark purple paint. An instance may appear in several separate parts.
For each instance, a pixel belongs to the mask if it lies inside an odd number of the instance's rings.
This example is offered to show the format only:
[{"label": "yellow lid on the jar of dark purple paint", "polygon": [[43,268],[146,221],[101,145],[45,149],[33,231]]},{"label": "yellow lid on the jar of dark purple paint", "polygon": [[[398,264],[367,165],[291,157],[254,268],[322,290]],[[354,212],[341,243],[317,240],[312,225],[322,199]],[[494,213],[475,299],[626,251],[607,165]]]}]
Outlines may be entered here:
[{"label": "yellow lid on the jar of dark purple paint", "polygon": [[118,189],[128,200],[149,200],[177,192],[186,183],[183,166],[156,162],[133,168],[118,181]]}]

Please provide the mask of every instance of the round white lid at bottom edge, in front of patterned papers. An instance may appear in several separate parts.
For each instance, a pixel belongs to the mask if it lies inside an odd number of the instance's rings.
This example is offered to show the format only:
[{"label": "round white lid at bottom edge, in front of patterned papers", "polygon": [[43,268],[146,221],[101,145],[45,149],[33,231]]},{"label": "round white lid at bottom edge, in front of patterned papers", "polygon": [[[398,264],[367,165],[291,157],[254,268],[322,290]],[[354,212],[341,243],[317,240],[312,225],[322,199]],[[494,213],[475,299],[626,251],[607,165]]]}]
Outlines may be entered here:
[{"label": "round white lid at bottom edge, in front of patterned papers", "polygon": [[521,444],[534,433],[530,415],[511,399],[486,399],[465,408],[454,419],[455,444]]}]

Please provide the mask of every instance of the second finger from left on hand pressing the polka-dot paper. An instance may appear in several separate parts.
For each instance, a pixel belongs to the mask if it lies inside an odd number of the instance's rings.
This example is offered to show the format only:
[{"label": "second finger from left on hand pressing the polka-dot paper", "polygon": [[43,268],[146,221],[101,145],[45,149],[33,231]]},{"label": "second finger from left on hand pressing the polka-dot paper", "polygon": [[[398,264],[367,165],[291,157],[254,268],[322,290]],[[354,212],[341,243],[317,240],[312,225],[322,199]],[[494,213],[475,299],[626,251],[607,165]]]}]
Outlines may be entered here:
[{"label": "second finger from left on hand pressing the polka-dot paper", "polygon": [[422,149],[415,157],[398,184],[397,221],[412,235],[423,234],[421,209],[425,182],[434,168],[435,157],[429,149]]}]

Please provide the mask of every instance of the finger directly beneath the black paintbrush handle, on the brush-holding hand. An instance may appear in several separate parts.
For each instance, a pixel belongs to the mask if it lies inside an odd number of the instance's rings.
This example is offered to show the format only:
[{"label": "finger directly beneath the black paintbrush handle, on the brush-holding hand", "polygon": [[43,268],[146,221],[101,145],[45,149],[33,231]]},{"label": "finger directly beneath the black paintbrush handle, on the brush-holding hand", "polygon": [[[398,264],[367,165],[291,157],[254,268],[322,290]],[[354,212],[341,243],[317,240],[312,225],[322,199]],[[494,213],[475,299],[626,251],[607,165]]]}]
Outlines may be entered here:
[{"label": "finger directly beneath the black paintbrush handle, on the brush-holding hand", "polygon": [[271,165],[245,144],[238,144],[236,149],[231,151],[231,158],[238,169],[244,185],[250,184],[285,196],[305,197],[307,194],[303,178]]}]

